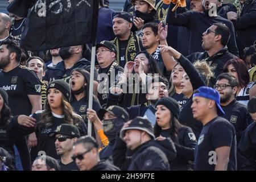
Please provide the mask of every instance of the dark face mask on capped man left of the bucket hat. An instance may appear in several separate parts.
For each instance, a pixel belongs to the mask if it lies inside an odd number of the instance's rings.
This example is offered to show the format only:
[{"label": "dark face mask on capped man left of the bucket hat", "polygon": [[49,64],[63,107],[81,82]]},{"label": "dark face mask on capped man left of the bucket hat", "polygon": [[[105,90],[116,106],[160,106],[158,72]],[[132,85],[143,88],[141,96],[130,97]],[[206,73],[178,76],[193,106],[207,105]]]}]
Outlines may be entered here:
[{"label": "dark face mask on capped man left of the bucket hat", "polygon": [[103,131],[106,137],[109,139],[115,137],[115,135],[121,130],[123,123],[125,122],[120,118],[104,119]]}]

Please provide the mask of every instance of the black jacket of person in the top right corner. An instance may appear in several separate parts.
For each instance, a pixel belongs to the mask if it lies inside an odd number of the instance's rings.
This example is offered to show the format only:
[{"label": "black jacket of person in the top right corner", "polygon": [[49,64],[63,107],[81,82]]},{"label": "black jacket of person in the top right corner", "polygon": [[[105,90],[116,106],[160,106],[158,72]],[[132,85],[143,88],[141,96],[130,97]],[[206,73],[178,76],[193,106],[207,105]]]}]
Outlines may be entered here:
[{"label": "black jacket of person in the top right corner", "polygon": [[[237,32],[237,46],[240,56],[243,55],[243,49],[253,45],[256,40],[256,1],[247,0],[243,2],[242,11],[237,20],[232,20],[234,28]],[[237,12],[234,5],[222,7],[219,14],[224,18],[228,18],[226,13],[229,11]]]}]

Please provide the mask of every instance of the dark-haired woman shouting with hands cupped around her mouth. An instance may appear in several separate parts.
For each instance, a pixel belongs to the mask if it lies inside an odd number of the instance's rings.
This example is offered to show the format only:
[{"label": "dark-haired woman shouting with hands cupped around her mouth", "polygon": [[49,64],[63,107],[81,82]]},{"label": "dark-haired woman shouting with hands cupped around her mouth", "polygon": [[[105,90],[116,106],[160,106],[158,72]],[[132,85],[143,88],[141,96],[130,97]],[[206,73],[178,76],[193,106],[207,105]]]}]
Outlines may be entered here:
[{"label": "dark-haired woman shouting with hands cupped around her mouth", "polygon": [[[131,77],[131,74],[133,77]],[[137,52],[134,61],[125,64],[123,74],[117,84],[122,88],[115,86],[115,88],[110,89],[107,106],[130,107],[145,104],[147,102],[147,81],[152,76],[157,76],[156,74],[162,76],[154,57],[147,51]],[[132,93],[131,88],[133,88]]]}]

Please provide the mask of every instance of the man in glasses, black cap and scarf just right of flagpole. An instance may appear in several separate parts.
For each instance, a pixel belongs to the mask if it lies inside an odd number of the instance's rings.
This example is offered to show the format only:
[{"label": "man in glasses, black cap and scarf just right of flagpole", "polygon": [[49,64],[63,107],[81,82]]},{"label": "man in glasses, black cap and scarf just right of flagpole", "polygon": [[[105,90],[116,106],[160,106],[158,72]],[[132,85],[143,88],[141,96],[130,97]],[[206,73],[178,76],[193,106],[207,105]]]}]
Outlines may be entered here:
[{"label": "man in glasses, black cap and scarf just right of flagpole", "polygon": [[123,73],[123,68],[115,63],[117,47],[112,42],[104,40],[96,45],[96,49],[98,64],[100,64],[100,68],[98,69],[100,76],[98,100],[101,106],[106,109],[109,88],[113,86],[115,81],[119,80],[119,76]]}]

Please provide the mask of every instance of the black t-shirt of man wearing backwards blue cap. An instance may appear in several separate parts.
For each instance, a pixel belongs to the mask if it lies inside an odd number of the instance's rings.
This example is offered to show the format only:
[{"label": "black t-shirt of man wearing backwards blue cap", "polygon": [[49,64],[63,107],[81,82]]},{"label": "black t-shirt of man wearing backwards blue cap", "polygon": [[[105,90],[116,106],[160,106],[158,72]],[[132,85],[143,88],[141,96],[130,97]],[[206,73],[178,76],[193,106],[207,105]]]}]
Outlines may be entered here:
[{"label": "black t-shirt of man wearing backwards blue cap", "polygon": [[[216,148],[229,146],[228,170],[236,170],[236,133],[233,125],[225,118],[216,117],[204,125],[195,150],[195,170],[214,171],[211,157]],[[217,158],[217,155],[215,155]],[[217,161],[217,159],[215,160]],[[213,162],[210,164],[210,162]]]}]

